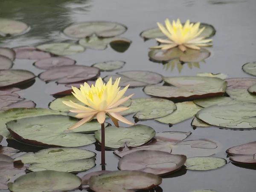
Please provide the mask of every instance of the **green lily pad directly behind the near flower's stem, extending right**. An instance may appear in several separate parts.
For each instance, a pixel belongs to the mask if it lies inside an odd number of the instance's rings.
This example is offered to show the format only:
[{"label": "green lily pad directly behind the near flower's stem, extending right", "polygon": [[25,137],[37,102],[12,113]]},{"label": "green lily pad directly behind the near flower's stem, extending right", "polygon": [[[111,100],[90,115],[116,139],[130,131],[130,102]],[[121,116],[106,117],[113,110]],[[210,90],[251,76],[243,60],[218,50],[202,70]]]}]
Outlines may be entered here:
[{"label": "green lily pad directly behind the near flower's stem, extending right", "polygon": [[[156,132],[146,125],[133,125],[131,127],[109,126],[105,128],[105,146],[118,149],[128,147],[138,147],[150,141]],[[101,129],[95,132],[96,140],[101,143]]]}]

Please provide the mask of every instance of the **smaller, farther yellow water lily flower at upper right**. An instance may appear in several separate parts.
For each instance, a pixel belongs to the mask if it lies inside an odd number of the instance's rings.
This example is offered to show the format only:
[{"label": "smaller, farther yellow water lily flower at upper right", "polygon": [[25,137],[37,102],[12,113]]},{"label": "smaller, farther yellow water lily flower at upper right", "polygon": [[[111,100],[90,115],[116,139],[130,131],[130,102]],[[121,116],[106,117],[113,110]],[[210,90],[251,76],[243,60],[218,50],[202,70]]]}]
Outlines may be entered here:
[{"label": "smaller, farther yellow water lily flower at upper right", "polygon": [[165,24],[166,28],[163,26],[163,24],[157,22],[161,32],[163,32],[163,34],[169,39],[156,38],[158,42],[164,43],[164,45],[150,47],[150,49],[172,49],[174,47],[178,47],[184,52],[186,51],[186,48],[200,49],[200,47],[212,45],[209,44],[212,39],[198,37],[205,29],[205,27],[199,29],[200,22],[194,24],[187,20],[183,26],[179,19],[177,19],[176,22],[173,20],[172,24],[170,23],[169,19],[166,19]]}]

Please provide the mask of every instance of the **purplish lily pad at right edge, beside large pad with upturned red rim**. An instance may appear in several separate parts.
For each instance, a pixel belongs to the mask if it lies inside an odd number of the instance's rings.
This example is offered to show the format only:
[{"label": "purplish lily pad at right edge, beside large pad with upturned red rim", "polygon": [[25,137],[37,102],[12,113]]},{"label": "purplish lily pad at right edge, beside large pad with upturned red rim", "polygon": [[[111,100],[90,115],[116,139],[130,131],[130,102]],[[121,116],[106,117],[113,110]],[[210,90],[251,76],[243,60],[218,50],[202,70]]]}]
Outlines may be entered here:
[{"label": "purplish lily pad at right edge, beside large pad with upturned red rim", "polygon": [[231,78],[225,81],[227,81],[227,89],[248,89],[256,83],[254,78]]}]

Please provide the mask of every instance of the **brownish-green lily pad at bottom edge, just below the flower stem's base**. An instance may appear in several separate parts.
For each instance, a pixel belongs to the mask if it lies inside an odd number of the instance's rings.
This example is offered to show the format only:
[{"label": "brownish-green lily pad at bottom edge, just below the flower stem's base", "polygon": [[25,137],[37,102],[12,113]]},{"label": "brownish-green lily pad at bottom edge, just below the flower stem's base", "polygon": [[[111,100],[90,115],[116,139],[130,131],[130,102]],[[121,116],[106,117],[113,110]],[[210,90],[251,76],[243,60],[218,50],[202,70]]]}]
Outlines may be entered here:
[{"label": "brownish-green lily pad at bottom edge, just below the flower stem's base", "polygon": [[135,189],[151,189],[161,183],[162,178],[157,175],[128,170],[103,173],[89,179],[90,189],[97,192],[134,192]]}]

